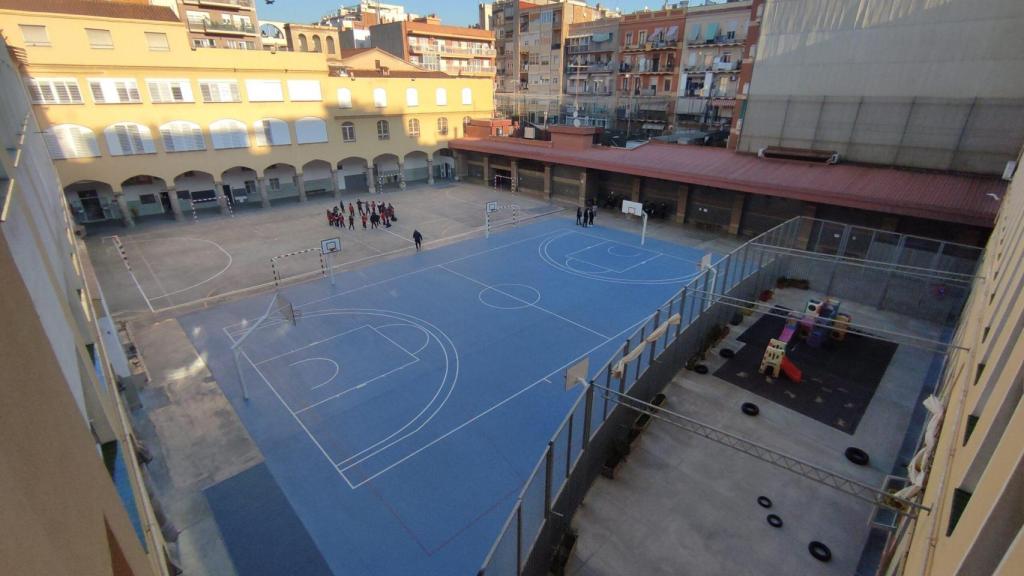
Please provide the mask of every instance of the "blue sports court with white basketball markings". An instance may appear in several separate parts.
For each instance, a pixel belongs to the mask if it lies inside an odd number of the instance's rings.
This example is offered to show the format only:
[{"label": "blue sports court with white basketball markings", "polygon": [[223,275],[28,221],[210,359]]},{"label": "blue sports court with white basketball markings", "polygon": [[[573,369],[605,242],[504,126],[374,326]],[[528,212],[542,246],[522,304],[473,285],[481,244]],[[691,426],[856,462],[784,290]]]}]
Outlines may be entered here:
[{"label": "blue sports court with white basketball markings", "polygon": [[[238,367],[230,346],[271,295],[181,318],[268,471],[207,492],[240,571],[284,573],[258,562],[280,542],[254,526],[280,521],[308,534],[288,548],[295,573],[475,574],[582,393],[565,368],[598,368],[702,255],[524,225],[287,288],[296,324],[261,323]],[[263,518],[231,516],[252,506]]]}]

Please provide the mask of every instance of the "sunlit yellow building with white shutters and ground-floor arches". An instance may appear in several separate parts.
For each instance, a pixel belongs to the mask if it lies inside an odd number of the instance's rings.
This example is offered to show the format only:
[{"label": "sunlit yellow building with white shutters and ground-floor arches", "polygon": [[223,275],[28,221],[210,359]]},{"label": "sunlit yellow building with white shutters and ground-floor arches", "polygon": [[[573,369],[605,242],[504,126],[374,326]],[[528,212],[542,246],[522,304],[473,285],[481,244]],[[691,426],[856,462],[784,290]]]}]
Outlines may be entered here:
[{"label": "sunlit yellow building with white shutters and ground-floor arches", "polygon": [[[99,18],[0,0],[0,27],[25,51],[32,102],[81,223],[431,182],[453,172],[447,140],[492,116],[487,78],[424,71],[375,48],[339,49],[340,61],[197,51],[170,10],[147,9]],[[113,49],[89,45],[83,31],[99,23]]]}]

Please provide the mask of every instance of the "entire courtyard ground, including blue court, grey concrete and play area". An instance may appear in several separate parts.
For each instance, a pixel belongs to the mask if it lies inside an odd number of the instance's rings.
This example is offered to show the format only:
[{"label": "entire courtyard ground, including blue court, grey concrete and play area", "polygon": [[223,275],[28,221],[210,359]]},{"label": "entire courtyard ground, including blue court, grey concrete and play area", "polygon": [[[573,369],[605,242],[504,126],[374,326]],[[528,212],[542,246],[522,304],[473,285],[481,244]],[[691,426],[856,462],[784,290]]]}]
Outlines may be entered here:
[{"label": "entire courtyard ground, including blue court, grey concrete and play area", "polygon": [[[599,209],[595,227],[579,228],[575,206],[476,184],[343,196],[346,207],[370,199],[394,206],[391,228],[362,230],[358,213],[356,230],[332,228],[334,201],[323,199],[88,230],[112,316],[138,353],[133,423],[185,574],[515,574],[550,561],[552,534],[565,532],[577,539],[559,564],[594,576],[710,565],[853,574],[881,553],[888,510],[674,421],[867,487],[905,465],[955,306],[904,305],[932,297],[912,280],[886,281],[872,299],[878,288],[862,288],[885,275],[871,270],[877,239],[857,254],[844,247],[861,263],[828,270],[799,254],[781,261],[782,244],[809,236],[808,252],[821,252],[822,239],[852,246],[861,231],[783,224],[761,239],[767,249],[651,219],[641,245],[639,218]],[[325,254],[331,238],[341,250]],[[706,254],[720,272],[710,280]],[[727,305],[785,273],[811,290],[776,290],[742,315]],[[757,363],[780,312],[836,294],[863,334],[795,348],[804,387],[766,387]],[[726,320],[706,373],[684,368],[695,334]],[[627,358],[640,341],[650,345]],[[874,368],[842,369],[858,355]],[[587,392],[565,381],[584,359],[597,384]],[[634,434],[637,414],[657,412],[615,389],[664,392],[665,412]],[[627,429],[629,455],[595,481]],[[869,465],[844,457],[851,446]],[[808,554],[811,540],[831,562]]]}]

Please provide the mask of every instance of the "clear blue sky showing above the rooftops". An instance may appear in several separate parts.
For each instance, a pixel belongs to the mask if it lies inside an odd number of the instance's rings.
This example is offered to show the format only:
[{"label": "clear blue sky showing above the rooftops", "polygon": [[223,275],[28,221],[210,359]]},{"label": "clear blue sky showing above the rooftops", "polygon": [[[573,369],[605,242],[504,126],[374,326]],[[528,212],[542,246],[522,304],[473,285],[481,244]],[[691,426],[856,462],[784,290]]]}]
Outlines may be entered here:
[{"label": "clear blue sky showing above the rooftops", "polygon": [[[255,0],[256,13],[260,18],[269,20],[294,22],[299,24],[309,24],[319,19],[327,12],[338,9],[339,6],[352,5],[358,0],[275,0],[273,4],[267,5],[263,0]],[[673,3],[675,3],[674,0]],[[476,5],[477,0],[385,0],[385,4],[401,4],[406,10],[414,14],[436,13],[441,22],[458,26],[469,26],[477,22]],[[595,0],[589,2],[596,4]],[[624,12],[632,12],[649,6],[651,9],[660,8],[665,2],[645,0],[602,0],[601,5],[608,8],[622,8]]]}]

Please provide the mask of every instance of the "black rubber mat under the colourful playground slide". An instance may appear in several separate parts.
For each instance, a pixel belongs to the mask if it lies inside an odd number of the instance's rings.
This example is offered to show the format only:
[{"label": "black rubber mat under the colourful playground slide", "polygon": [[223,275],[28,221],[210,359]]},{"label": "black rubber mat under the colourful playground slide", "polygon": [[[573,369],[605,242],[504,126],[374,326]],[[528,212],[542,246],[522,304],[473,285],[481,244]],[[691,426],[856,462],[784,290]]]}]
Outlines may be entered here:
[{"label": "black rubber mat under the colourful playground slide", "polygon": [[[781,306],[772,310],[791,312]],[[852,435],[897,345],[850,331],[841,342],[826,339],[822,347],[812,348],[794,336],[786,356],[803,371],[803,381],[797,384],[781,374],[771,378],[758,373],[768,340],[778,337],[784,325],[782,318],[762,316],[739,336],[744,345],[715,375]]]}]

